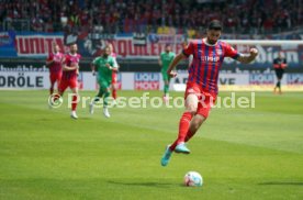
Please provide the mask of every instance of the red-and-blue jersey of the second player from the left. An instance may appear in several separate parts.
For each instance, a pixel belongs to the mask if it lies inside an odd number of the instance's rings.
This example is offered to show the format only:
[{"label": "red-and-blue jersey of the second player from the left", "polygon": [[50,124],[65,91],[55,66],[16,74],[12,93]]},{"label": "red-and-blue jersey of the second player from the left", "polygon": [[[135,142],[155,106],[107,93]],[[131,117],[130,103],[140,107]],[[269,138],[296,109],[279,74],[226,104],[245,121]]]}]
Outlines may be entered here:
[{"label": "red-and-blue jersey of the second player from the left", "polygon": [[[68,67],[72,67],[75,65],[79,65],[81,55],[80,54],[66,54],[64,64]],[[77,69],[63,71],[61,80],[71,80],[77,79]]]}]

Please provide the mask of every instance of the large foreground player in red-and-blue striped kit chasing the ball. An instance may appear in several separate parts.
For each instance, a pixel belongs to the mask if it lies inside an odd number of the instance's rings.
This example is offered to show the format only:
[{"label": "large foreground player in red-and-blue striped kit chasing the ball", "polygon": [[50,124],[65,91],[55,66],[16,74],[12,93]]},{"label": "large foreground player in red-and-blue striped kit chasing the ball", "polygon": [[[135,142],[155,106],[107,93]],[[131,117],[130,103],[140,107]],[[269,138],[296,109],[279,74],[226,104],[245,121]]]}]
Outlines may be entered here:
[{"label": "large foreground player in red-and-blue striped kit chasing the ball", "polygon": [[224,57],[232,57],[243,64],[248,64],[258,55],[256,48],[250,48],[248,55],[238,53],[229,44],[218,40],[221,33],[221,22],[217,20],[211,21],[207,26],[206,37],[190,42],[183,52],[175,57],[167,70],[170,77],[176,77],[177,73],[172,71],[172,69],[180,60],[193,55],[184,93],[186,111],[179,122],[177,140],[167,146],[161,157],[162,166],[168,165],[172,152],[190,153],[186,143],[209,116],[211,105],[217,96],[218,70]]}]

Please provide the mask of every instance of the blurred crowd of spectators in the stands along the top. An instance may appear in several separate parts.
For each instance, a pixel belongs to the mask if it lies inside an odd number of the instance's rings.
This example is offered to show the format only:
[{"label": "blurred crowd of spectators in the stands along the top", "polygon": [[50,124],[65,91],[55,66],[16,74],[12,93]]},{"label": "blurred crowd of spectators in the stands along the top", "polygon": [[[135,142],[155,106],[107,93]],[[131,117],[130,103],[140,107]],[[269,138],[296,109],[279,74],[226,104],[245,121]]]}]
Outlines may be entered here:
[{"label": "blurred crowd of spectators in the stands along the top", "polygon": [[0,29],[36,32],[181,33],[199,36],[217,19],[237,34],[303,24],[301,0],[1,0]]}]

